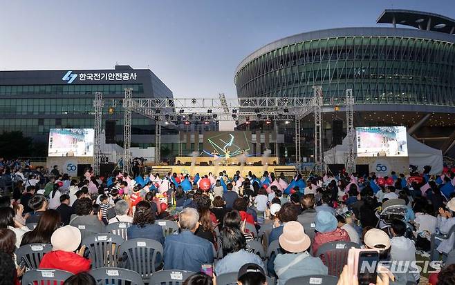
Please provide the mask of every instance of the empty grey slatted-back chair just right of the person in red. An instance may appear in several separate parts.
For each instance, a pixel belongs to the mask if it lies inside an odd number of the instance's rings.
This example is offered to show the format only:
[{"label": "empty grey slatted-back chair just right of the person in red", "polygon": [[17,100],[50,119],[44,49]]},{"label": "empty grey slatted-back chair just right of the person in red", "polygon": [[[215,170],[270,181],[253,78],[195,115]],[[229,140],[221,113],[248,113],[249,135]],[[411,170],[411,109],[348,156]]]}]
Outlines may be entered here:
[{"label": "empty grey slatted-back chair just right of the person in red", "polygon": [[111,233],[99,233],[82,239],[89,250],[92,268],[116,267],[118,264],[118,246],[123,243],[122,237]]}]

